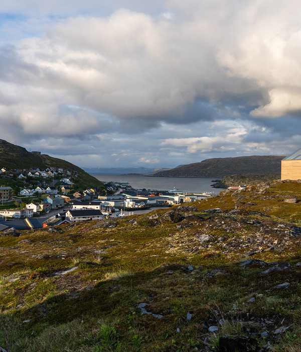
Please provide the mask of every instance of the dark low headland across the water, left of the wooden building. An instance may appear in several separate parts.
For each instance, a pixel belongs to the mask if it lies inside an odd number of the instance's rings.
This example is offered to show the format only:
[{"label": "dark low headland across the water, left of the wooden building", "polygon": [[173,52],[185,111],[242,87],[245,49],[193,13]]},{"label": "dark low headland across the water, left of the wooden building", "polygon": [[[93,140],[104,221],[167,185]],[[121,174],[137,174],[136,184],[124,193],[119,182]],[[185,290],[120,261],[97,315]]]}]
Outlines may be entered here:
[{"label": "dark low headland across the water, left of the wooden building", "polygon": [[279,155],[251,155],[212,158],[157,172],[152,176],[223,178],[226,175],[241,173],[280,174],[281,160],[284,157]]}]

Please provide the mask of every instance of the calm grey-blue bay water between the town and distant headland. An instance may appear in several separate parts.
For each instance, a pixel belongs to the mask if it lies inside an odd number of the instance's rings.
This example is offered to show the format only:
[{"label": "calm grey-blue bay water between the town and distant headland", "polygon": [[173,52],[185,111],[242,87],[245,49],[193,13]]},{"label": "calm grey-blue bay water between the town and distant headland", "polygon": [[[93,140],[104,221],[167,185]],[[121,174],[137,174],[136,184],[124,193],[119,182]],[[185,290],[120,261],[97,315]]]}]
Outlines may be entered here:
[{"label": "calm grey-blue bay water between the town and distant headland", "polygon": [[134,189],[146,190],[158,190],[168,191],[172,188],[176,188],[183,192],[195,192],[195,193],[220,193],[223,191],[221,188],[212,188],[212,180],[214,178],[183,178],[183,177],[148,177],[148,176],[134,176],[134,175],[104,175],[91,173],[99,181],[113,181],[120,182],[120,180],[127,180],[128,183]]}]

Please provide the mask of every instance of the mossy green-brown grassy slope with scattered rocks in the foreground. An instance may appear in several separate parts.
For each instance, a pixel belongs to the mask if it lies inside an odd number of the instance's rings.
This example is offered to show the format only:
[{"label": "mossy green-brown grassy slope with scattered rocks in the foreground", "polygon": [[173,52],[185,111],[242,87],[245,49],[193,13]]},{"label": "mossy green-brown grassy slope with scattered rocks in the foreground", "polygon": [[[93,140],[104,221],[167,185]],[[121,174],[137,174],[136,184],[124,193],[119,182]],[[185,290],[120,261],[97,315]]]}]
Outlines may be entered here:
[{"label": "mossy green-brown grassy slope with scattered rocks in the foreground", "polygon": [[[300,236],[258,234],[252,224],[269,221],[277,228],[282,221],[299,226],[299,204],[283,202],[292,196],[301,199],[301,184],[279,182],[267,190],[253,187],[196,202],[198,210],[180,226],[144,214],[116,220],[115,228],[89,222],[53,233],[41,229],[0,237],[0,326],[7,330],[11,351],[217,350],[225,333],[246,341],[245,350],[253,350],[254,338],[258,346],[270,341],[274,351],[299,351],[301,269],[294,264],[301,261]],[[210,227],[212,216],[206,210],[216,207],[265,214],[249,215],[251,225],[243,222],[233,233]],[[167,211],[157,211],[159,219]],[[196,234],[204,231],[226,239],[200,247]],[[293,270],[260,276],[258,266],[238,266],[250,258],[245,256],[249,243],[264,236],[276,249],[255,245],[260,250],[251,257],[289,261]],[[242,247],[235,246],[239,241]],[[188,265],[196,269],[190,272]],[[55,274],[69,268],[76,269]],[[291,286],[274,289],[283,282]],[[250,297],[256,301],[247,303]],[[142,302],[163,318],[140,315]],[[218,325],[219,331],[209,333],[203,324]],[[273,336],[281,326],[289,328]],[[265,330],[267,339],[260,337]],[[2,329],[0,346],[6,347]]]}]

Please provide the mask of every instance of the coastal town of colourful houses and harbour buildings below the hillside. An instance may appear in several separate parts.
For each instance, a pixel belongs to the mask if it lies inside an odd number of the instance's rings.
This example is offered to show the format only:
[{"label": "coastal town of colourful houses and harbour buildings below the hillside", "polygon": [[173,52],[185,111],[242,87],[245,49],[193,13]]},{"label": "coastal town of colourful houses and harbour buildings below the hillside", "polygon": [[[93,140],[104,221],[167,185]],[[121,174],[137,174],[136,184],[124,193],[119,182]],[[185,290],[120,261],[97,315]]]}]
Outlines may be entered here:
[{"label": "coastal town of colourful houses and harbour buildings below the hillside", "polygon": [[123,217],[135,211],[170,207],[210,196],[184,194],[175,188],[168,191],[133,189],[124,179],[105,183],[105,192],[98,187],[79,191],[75,190],[76,171],[56,167],[45,170],[2,168],[0,172],[3,181],[14,178],[22,180],[24,185],[18,194],[10,186],[0,187],[0,231]]}]

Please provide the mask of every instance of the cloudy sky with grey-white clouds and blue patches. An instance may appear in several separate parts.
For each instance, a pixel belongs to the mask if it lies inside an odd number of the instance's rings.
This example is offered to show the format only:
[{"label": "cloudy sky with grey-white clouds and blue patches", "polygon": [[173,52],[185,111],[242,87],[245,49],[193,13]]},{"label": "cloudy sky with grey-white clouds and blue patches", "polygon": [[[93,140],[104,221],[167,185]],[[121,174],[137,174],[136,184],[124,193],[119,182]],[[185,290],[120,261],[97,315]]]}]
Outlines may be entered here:
[{"label": "cloudy sky with grey-white clouds and blue patches", "polygon": [[81,167],[301,147],[297,0],[11,0],[0,138]]}]

